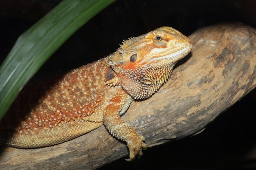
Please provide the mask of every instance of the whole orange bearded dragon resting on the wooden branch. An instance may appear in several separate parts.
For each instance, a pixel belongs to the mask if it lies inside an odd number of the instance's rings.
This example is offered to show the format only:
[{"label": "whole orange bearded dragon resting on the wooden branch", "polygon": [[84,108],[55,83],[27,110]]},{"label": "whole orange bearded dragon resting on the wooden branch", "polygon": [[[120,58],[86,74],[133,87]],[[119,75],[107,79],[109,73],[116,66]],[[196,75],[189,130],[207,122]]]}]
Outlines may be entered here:
[{"label": "whole orange bearded dragon resting on the wooden branch", "polygon": [[120,116],[133,100],[153,95],[191,49],[189,38],[164,26],[125,40],[115,53],[55,79],[34,97],[30,88],[21,91],[0,123],[0,143],[24,149],[52,146],[104,124],[126,142],[132,161],[147,148],[145,138]]}]

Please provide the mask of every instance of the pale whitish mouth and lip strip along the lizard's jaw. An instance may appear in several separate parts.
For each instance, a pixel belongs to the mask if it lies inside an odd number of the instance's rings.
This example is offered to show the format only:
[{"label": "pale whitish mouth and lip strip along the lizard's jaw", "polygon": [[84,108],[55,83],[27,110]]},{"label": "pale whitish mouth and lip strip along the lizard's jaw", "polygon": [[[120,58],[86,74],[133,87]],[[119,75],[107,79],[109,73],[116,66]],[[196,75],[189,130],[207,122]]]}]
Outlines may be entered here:
[{"label": "pale whitish mouth and lip strip along the lizard's jaw", "polygon": [[164,60],[164,59],[168,59],[170,61],[178,61],[183,57],[185,57],[191,50],[192,50],[192,44],[189,44],[185,48],[175,51],[173,53],[170,53],[164,56],[150,58],[147,62],[153,62],[155,60]]}]

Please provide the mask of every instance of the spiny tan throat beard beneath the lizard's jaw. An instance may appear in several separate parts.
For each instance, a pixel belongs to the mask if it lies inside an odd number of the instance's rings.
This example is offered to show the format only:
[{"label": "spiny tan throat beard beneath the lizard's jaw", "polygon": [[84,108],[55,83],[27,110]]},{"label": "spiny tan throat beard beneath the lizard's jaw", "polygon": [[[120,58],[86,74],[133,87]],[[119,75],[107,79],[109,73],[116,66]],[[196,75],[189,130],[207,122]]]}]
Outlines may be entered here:
[{"label": "spiny tan throat beard beneath the lizard's jaw", "polygon": [[121,70],[121,86],[134,99],[145,99],[153,95],[170,77],[174,64],[142,65],[134,70]]}]

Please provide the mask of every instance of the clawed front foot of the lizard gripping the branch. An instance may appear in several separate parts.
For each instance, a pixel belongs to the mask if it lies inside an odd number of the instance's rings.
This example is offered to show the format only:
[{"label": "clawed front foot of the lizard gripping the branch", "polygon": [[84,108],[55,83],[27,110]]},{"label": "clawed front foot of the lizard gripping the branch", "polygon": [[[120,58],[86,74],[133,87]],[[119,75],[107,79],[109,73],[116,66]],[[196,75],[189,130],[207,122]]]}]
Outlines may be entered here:
[{"label": "clawed front foot of the lizard gripping the branch", "polygon": [[[138,139],[139,138],[139,139]],[[142,150],[147,149],[147,145],[144,143],[145,138],[143,136],[138,135],[137,141],[128,141],[127,146],[130,151],[129,159],[126,159],[126,161],[133,161],[136,156],[141,157],[143,155]]]}]

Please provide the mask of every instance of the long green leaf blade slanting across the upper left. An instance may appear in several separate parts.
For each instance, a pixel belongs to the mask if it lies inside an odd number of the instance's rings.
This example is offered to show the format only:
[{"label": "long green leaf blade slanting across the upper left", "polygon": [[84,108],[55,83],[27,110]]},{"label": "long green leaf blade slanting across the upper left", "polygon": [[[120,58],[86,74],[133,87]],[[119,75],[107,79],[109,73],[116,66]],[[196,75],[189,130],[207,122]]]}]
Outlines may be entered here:
[{"label": "long green leaf blade slanting across the upper left", "polygon": [[20,35],[0,66],[0,119],[22,87],[77,29],[115,0],[63,0]]}]

